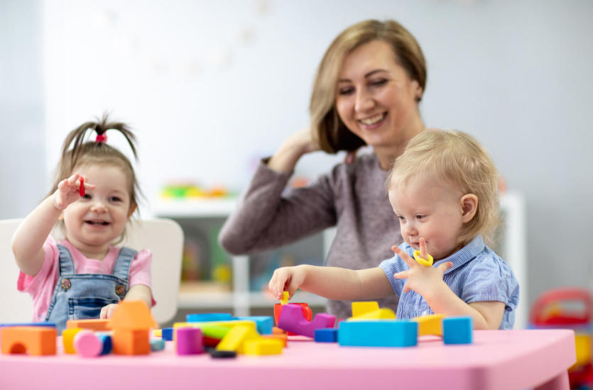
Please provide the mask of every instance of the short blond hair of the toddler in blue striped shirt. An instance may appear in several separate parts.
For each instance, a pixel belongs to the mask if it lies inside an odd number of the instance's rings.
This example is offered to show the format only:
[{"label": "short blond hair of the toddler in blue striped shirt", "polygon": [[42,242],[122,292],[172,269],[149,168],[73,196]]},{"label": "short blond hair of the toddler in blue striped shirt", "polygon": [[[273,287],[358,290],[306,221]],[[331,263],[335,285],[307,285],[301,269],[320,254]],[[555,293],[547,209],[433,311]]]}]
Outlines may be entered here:
[{"label": "short blond hair of the toddler in blue striped shirt", "polygon": [[396,159],[387,179],[388,190],[405,186],[417,174],[443,179],[463,194],[476,195],[476,215],[462,228],[459,241],[466,245],[482,234],[487,245],[494,243],[500,222],[499,175],[488,152],[475,138],[456,130],[432,129],[416,135]]}]

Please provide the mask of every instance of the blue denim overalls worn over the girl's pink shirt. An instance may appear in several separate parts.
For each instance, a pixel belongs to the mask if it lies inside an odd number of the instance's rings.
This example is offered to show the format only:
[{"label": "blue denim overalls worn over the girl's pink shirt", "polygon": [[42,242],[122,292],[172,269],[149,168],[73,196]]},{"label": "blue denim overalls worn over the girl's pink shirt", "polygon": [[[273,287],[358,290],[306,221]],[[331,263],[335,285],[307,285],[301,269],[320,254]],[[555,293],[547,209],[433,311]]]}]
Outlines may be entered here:
[{"label": "blue denim overalls worn over the girl's pink shirt", "polygon": [[72,255],[67,247],[58,245],[60,267],[58,283],[45,321],[55,323],[58,333],[68,320],[99,318],[101,308],[118,303],[128,291],[131,260],[136,250],[122,247],[115,260],[112,274],[75,274]]}]

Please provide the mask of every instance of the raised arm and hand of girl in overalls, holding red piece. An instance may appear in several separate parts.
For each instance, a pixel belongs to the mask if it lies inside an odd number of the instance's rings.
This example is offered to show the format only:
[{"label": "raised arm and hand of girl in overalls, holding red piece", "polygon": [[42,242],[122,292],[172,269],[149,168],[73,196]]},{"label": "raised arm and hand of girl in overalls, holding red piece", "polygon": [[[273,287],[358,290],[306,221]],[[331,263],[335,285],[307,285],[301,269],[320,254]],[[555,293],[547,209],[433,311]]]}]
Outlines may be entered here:
[{"label": "raised arm and hand of girl in overalls, holding red piece", "polygon": [[[93,189],[94,185],[84,184]],[[43,265],[43,243],[50,235],[62,211],[80,199],[80,174],[73,174],[58,184],[58,189],[23,219],[12,238],[12,251],[18,268],[35,276]]]}]

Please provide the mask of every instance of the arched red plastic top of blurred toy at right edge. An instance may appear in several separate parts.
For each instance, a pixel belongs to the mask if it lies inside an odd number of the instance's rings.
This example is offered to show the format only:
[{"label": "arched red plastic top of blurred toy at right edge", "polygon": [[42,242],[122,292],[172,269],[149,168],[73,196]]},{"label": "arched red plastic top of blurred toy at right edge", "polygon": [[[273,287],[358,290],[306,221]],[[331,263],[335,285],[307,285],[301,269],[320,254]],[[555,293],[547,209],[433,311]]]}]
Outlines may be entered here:
[{"label": "arched red plastic top of blurred toy at right edge", "polygon": [[[546,314],[546,307],[562,301],[582,303],[582,311],[562,309],[560,313]],[[536,327],[541,325],[588,325],[591,323],[592,312],[593,299],[586,289],[553,289],[540,295],[535,301],[529,313],[529,322]]]}]

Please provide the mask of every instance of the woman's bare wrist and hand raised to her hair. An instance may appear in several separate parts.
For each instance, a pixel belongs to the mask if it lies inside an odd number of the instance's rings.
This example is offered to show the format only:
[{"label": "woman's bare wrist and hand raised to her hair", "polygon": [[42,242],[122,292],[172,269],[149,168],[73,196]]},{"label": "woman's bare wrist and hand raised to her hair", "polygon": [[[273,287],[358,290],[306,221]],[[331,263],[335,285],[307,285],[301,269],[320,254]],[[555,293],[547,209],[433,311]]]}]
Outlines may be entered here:
[{"label": "woman's bare wrist and hand raised to her hair", "polygon": [[277,172],[293,172],[300,157],[317,150],[321,150],[319,141],[309,128],[303,128],[284,140],[268,161],[268,167]]}]

